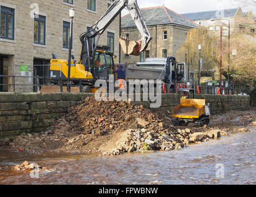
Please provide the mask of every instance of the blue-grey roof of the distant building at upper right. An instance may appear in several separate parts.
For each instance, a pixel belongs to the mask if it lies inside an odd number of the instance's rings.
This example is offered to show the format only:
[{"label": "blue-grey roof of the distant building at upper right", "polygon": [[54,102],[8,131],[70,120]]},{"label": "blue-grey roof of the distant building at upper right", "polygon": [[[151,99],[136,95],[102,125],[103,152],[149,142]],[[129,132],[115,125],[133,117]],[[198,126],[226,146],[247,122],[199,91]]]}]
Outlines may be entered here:
[{"label": "blue-grey roof of the distant building at upper right", "polygon": [[[207,12],[193,12],[187,14],[181,14],[182,16],[188,18],[189,20],[207,20],[207,19],[215,19],[215,18],[227,18],[234,17],[239,8],[234,9],[226,9],[226,10],[213,10]],[[224,17],[222,15],[224,13]]]}]

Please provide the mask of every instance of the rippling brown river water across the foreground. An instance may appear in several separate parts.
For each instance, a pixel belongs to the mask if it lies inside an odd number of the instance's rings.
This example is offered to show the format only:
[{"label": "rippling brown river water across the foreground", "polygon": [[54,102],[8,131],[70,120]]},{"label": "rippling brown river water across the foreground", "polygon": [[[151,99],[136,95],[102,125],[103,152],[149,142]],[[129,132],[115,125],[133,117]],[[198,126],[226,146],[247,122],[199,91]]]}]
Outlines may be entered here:
[{"label": "rippling brown river water across the foreground", "polygon": [[[111,158],[0,151],[1,184],[256,184],[256,128],[187,148]],[[6,169],[27,160],[56,169],[32,178]],[[35,176],[34,176],[35,177]]]}]

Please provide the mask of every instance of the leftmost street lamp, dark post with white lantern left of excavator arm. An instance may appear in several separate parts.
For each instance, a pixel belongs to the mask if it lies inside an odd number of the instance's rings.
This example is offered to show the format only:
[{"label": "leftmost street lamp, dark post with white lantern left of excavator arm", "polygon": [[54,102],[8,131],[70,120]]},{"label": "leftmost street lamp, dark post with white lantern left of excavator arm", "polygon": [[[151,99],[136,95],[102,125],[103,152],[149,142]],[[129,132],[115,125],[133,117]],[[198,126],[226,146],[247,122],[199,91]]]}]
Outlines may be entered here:
[{"label": "leftmost street lamp, dark post with white lantern left of excavator arm", "polygon": [[70,32],[69,32],[69,69],[67,74],[67,92],[71,92],[70,89],[70,66],[71,66],[71,50],[72,50],[72,38],[73,38],[73,20],[75,16],[75,9],[72,8],[69,10],[69,18],[70,18]]}]

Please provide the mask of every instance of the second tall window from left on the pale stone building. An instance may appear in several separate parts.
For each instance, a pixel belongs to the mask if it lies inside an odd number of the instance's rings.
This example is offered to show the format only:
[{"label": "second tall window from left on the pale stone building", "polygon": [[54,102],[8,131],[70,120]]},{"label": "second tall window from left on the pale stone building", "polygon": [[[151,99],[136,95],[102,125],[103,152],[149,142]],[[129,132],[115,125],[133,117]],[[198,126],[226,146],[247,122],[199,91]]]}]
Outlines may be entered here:
[{"label": "second tall window from left on the pale stone building", "polygon": [[34,43],[45,44],[45,22],[46,17],[39,15],[34,22]]}]

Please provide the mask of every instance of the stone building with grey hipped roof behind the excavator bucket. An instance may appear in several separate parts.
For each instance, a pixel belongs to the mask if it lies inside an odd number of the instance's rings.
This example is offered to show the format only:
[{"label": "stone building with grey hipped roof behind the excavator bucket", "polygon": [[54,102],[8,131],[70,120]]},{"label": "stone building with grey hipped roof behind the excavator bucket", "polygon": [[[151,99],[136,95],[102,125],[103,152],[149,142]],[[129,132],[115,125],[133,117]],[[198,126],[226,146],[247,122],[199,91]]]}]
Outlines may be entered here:
[{"label": "stone building with grey hipped roof behind the excavator bucket", "polygon": [[[150,57],[175,57],[177,49],[186,41],[187,32],[198,27],[196,23],[164,6],[144,8],[141,11],[153,39],[140,57],[126,55],[121,51],[122,63],[134,64]],[[130,14],[122,17],[121,36],[130,40],[140,39]]]}]

